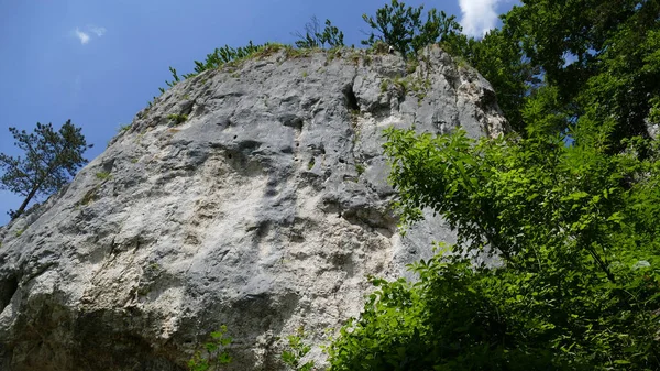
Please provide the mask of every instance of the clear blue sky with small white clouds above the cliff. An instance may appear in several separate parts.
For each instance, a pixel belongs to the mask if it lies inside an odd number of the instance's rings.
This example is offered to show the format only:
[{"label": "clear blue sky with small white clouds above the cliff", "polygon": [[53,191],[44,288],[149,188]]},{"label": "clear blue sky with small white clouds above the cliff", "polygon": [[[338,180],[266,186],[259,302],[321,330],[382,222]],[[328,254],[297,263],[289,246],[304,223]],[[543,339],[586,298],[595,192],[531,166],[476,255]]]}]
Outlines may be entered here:
[{"label": "clear blue sky with small white clouds above the cliff", "polygon": [[[250,40],[293,43],[316,15],[360,45],[374,14],[388,0],[0,0],[0,152],[19,155],[8,128],[32,131],[36,122],[82,128],[99,155],[120,124],[130,123],[158,87],[193,69],[216,47]],[[405,1],[437,8],[480,35],[514,0]],[[1,170],[0,170],[1,171]],[[22,197],[0,190],[0,225]]]}]

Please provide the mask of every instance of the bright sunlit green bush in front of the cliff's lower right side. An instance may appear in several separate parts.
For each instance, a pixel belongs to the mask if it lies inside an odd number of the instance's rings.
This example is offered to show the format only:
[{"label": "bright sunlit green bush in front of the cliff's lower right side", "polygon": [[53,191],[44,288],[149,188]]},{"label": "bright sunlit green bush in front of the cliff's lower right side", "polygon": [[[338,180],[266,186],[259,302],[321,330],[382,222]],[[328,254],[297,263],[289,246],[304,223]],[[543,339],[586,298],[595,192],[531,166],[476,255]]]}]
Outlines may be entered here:
[{"label": "bright sunlit green bush in front of the cliff's lower right side", "polygon": [[[403,220],[432,209],[458,242],[413,264],[417,282],[373,280],[331,370],[660,369],[660,151],[610,154],[612,131],[575,128],[568,146],[388,130]],[[488,251],[503,266],[462,258]]]}]

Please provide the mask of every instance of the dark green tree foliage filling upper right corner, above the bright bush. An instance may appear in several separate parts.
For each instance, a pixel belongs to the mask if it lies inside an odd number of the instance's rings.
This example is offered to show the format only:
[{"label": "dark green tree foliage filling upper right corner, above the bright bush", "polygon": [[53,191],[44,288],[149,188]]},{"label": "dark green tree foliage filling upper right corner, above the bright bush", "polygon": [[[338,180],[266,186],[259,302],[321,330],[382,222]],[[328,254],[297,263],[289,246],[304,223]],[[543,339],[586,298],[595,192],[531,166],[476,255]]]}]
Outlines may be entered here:
[{"label": "dark green tree foliage filling upper right corner, above the bright bush", "polygon": [[[544,129],[612,121],[612,151],[658,123],[660,3],[647,0],[525,0],[483,40],[453,37],[444,46],[493,84],[512,127],[535,124],[522,108],[553,116]],[[549,90],[549,91],[544,91]]]}]

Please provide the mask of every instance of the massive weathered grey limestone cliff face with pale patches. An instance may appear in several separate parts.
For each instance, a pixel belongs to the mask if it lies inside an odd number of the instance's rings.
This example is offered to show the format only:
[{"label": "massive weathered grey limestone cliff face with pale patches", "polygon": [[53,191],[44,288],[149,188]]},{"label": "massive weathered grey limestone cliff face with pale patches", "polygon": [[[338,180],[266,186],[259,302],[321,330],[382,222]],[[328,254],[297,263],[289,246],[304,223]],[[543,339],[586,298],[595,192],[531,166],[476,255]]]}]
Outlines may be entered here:
[{"label": "massive weathered grey limestone cliff face with pale patches", "polygon": [[179,83],[0,228],[0,369],[185,370],[221,324],[230,369],[283,369],[277,337],[322,343],[366,275],[453,238],[432,218],[397,233],[392,126],[505,130],[490,85],[437,46],[413,65],[280,50]]}]

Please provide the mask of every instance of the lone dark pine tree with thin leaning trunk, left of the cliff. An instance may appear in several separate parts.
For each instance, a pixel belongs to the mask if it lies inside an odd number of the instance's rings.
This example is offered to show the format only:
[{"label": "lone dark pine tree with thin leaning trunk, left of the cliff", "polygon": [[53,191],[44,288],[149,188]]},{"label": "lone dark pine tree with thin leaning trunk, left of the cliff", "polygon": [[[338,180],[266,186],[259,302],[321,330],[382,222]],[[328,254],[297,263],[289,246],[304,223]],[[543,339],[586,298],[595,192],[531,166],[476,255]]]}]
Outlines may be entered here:
[{"label": "lone dark pine tree with thin leaning trunk, left of the cliff", "polygon": [[57,192],[87,163],[82,154],[92,145],[87,144],[80,130],[72,120],[58,131],[51,123],[38,122],[33,133],[9,128],[15,145],[24,152],[24,157],[0,153],[0,188],[25,197],[18,210],[9,211],[12,219],[23,214],[35,196]]}]

